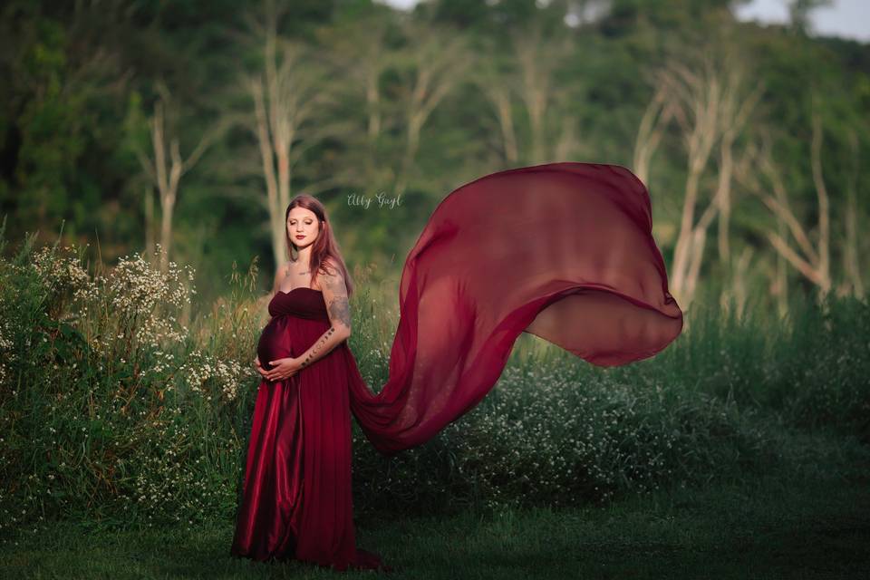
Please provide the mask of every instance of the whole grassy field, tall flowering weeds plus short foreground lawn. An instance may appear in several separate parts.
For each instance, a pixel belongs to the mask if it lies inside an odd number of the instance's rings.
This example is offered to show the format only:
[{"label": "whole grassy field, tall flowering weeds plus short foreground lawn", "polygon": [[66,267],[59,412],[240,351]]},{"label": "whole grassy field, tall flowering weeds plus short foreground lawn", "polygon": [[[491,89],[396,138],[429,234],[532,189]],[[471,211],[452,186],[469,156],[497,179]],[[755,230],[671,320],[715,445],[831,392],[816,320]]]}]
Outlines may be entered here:
[{"label": "whole grassy field, tall flowering weeds plus short foreground lawn", "polygon": [[[334,575],[228,554],[255,273],[187,326],[184,276],[141,256],[108,276],[0,259],[0,578]],[[383,295],[354,309],[372,385]],[[359,545],[414,579],[866,577],[870,306],[793,302],[785,319],[712,304],[613,369],[523,336],[426,445],[386,459],[354,430]]]}]

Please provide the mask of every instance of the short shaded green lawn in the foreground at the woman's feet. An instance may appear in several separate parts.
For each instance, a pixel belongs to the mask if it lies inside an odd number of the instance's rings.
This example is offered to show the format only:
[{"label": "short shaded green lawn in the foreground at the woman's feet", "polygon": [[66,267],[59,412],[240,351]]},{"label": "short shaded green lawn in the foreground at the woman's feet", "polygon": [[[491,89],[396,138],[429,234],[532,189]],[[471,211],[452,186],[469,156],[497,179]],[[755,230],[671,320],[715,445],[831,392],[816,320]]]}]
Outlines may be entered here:
[{"label": "short shaded green lawn in the foreground at the woman's feet", "polygon": [[[797,435],[797,472],[661,489],[604,507],[369,517],[359,546],[427,578],[857,578],[870,569],[870,449]],[[112,529],[52,524],[0,556],[4,578],[344,577],[228,556],[232,521]],[[371,573],[351,572],[347,576]]]}]

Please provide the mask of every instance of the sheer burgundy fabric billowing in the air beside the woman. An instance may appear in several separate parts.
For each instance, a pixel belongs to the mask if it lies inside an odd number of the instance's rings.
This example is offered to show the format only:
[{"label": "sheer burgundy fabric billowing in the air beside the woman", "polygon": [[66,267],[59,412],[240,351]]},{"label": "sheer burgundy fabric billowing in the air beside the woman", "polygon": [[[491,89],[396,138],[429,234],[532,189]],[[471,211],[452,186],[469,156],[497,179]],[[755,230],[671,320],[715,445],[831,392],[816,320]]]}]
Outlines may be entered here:
[{"label": "sheer burgundy fabric billowing in the air beside the woman", "polygon": [[399,309],[382,390],[350,368],[353,415],[386,455],[477,405],[519,333],[613,366],[682,330],[646,188],[590,163],[508,169],[451,192],[405,261]]}]

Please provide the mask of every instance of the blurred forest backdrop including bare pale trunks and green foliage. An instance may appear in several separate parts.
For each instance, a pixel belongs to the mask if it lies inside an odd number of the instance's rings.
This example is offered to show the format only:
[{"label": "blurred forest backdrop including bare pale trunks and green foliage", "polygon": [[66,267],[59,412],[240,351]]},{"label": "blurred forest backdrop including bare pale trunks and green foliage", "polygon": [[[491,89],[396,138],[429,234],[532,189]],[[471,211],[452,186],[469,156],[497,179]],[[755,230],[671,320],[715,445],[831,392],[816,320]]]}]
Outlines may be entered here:
[{"label": "blurred forest backdrop including bare pale trunks and green foliage", "polygon": [[450,190],[578,160],[648,185],[686,310],[863,295],[870,48],[808,36],[824,2],[741,4],[8,2],[6,236],[63,223],[106,264],[159,244],[210,300],[254,256],[268,287],[305,192],[388,277]]}]

